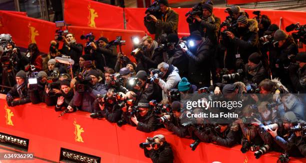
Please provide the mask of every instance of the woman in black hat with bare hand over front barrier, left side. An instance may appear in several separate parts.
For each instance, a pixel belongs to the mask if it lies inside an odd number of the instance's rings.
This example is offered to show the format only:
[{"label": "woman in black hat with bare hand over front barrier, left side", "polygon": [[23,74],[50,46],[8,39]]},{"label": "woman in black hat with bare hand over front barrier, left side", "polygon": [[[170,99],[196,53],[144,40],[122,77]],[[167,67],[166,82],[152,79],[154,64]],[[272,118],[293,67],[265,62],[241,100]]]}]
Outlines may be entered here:
[{"label": "woman in black hat with bare hand over front barrier, left side", "polygon": [[[60,96],[57,98],[55,111],[65,110],[67,109],[70,101],[73,98],[73,89],[69,87],[70,81],[69,80],[62,80],[59,81],[60,83]],[[69,109],[69,111],[73,111]]]}]

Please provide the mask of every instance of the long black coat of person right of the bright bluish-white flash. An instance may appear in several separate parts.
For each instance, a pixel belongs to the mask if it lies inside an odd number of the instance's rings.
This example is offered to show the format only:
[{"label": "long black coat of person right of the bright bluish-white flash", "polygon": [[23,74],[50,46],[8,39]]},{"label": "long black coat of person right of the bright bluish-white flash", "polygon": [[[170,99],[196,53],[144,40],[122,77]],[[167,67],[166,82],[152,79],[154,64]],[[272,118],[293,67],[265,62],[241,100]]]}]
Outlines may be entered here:
[{"label": "long black coat of person right of the bright bluish-white flash", "polygon": [[210,57],[212,44],[209,39],[203,38],[191,51],[187,51],[188,80],[197,87],[210,85]]}]

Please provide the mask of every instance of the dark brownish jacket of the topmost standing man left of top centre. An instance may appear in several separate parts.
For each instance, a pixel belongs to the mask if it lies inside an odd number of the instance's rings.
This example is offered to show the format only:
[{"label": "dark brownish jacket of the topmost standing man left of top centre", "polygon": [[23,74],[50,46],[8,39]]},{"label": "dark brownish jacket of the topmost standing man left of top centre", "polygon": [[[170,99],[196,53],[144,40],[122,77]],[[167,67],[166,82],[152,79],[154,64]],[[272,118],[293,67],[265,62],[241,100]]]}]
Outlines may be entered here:
[{"label": "dark brownish jacket of the topmost standing man left of top centre", "polygon": [[146,21],[144,17],[144,26],[149,33],[155,34],[155,40],[163,33],[177,33],[178,14],[170,7],[165,15],[158,13],[155,17],[157,18],[157,22]]}]

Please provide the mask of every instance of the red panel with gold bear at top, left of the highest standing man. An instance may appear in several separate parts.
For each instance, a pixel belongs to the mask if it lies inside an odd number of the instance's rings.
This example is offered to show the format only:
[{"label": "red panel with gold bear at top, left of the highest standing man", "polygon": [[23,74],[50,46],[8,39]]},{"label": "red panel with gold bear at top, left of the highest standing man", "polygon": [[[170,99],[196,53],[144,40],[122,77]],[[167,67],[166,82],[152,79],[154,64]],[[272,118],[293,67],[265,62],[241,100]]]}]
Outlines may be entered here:
[{"label": "red panel with gold bear at top, left of the highest standing man", "polygon": [[64,20],[75,26],[124,28],[121,7],[93,0],[64,0]]}]

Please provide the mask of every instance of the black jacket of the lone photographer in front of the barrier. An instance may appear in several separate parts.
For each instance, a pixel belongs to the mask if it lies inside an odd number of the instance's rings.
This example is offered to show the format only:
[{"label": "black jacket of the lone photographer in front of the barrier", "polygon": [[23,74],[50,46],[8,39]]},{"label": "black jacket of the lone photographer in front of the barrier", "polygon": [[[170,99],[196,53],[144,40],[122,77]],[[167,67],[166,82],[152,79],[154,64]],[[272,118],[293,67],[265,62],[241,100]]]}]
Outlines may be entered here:
[{"label": "black jacket of the lone photographer in front of the barrier", "polygon": [[166,141],[163,142],[157,150],[151,149],[147,150],[143,148],[144,155],[148,158],[151,158],[153,163],[170,163],[173,162],[173,152],[171,146]]}]

